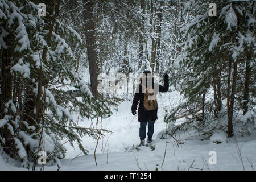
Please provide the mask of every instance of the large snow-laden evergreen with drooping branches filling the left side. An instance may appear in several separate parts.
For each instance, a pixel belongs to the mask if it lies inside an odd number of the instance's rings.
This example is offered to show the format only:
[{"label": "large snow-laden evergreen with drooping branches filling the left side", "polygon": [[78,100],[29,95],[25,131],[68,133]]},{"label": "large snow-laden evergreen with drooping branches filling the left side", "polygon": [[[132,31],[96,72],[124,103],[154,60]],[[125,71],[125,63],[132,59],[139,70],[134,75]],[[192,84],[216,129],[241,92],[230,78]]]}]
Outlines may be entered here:
[{"label": "large snow-laden evergreen with drooping branches filling the left side", "polygon": [[31,1],[0,1],[1,73],[8,78],[1,82],[0,143],[27,168],[36,164],[40,150],[47,152],[47,160],[64,158],[63,140],[88,152],[81,137],[96,138],[100,131],[77,126],[73,111],[88,118],[111,113],[76,72],[77,57],[66,40],[81,45],[82,39],[57,19],[61,2],[48,3],[49,13],[39,17]]}]

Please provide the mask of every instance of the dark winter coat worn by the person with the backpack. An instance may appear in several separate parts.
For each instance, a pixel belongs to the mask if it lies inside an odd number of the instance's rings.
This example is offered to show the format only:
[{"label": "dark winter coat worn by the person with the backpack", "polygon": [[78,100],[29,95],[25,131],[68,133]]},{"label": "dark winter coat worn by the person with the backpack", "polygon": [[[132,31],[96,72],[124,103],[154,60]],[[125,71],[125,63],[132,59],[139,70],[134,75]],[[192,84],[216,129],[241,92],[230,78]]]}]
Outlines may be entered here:
[{"label": "dark winter coat worn by the person with the backpack", "polygon": [[[152,81],[152,85],[154,86],[159,86],[159,92],[167,92],[169,88],[169,80],[164,79],[164,86],[161,86],[159,84],[154,83]],[[139,92],[138,92],[139,90]],[[155,94],[157,94],[155,92]],[[136,88],[136,92],[134,94],[133,98],[133,105],[131,106],[131,110],[137,110],[137,105],[139,102],[139,109],[138,109],[138,121],[139,122],[147,122],[149,119],[150,121],[155,121],[158,118],[158,109],[151,110],[151,111],[146,111],[143,106],[143,101],[144,101],[144,93],[142,93],[142,85],[138,84]],[[159,105],[159,102],[158,102]]]}]

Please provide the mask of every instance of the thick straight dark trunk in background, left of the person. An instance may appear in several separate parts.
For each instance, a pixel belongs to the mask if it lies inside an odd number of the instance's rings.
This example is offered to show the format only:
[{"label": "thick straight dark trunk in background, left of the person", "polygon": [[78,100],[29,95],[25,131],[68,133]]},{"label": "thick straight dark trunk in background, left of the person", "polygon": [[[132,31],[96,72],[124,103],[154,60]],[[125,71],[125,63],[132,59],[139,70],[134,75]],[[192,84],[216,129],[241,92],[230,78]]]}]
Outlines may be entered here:
[{"label": "thick straight dark trunk in background, left of the person", "polygon": [[86,38],[86,47],[87,55],[89,62],[89,71],[90,71],[90,85],[92,88],[93,96],[100,96],[98,93],[98,74],[100,68],[98,66],[98,56],[97,56],[97,46],[96,46],[96,31],[95,31],[95,22],[93,18],[93,1],[84,0],[84,22],[85,22],[85,38]]}]

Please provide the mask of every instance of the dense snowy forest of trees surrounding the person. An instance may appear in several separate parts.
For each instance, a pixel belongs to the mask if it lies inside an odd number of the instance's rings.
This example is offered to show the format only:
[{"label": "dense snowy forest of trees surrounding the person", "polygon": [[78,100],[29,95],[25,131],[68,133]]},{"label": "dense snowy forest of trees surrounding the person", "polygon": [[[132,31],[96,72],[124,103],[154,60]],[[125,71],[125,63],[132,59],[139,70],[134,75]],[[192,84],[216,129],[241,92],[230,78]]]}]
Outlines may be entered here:
[{"label": "dense snowy forest of trees surrounding the person", "polygon": [[[0,0],[2,150],[32,169],[39,151],[64,158],[63,140],[88,154],[81,138],[111,131],[80,127],[72,114],[110,117],[135,92],[118,88],[145,70],[159,82],[167,73],[169,92],[184,98],[166,110],[166,123],[187,119],[172,133],[227,117],[218,129],[231,138],[240,123],[240,134],[249,135],[249,124],[256,128],[255,1],[214,1],[216,16],[209,3]],[[104,81],[112,92],[100,92]]]}]

